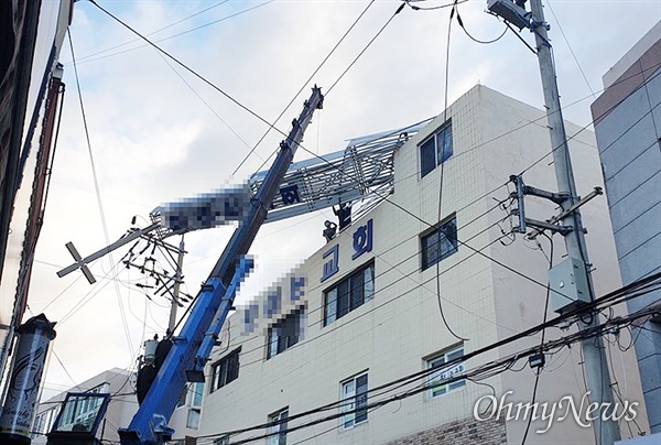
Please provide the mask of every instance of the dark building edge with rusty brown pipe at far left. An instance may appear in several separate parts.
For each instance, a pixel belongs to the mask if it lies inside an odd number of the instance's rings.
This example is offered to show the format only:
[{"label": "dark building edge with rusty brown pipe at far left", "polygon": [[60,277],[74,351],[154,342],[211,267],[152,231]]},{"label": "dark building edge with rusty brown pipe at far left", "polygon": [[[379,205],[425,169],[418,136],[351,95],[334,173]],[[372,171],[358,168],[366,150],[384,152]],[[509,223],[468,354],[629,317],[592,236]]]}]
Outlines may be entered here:
[{"label": "dark building edge with rusty brown pipe at far left", "polygon": [[[24,322],[64,84],[72,0],[0,2],[0,375]],[[0,387],[4,386],[4,381]]]}]

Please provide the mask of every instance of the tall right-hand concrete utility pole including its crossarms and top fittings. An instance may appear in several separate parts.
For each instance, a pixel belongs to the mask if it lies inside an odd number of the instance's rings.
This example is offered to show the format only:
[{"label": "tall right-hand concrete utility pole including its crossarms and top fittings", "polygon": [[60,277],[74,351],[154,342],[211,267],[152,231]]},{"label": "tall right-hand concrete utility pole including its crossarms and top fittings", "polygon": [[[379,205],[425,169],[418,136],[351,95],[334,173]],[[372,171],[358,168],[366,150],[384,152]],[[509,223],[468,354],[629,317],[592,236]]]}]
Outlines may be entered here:
[{"label": "tall right-hand concrete utility pole including its crossarms and top fittings", "polygon": [[[537,44],[537,55],[540,64],[540,74],[542,77],[542,87],[544,90],[544,102],[546,108],[546,120],[551,132],[551,146],[553,148],[553,164],[555,166],[555,176],[557,182],[557,193],[548,193],[533,187],[525,187],[531,194],[545,197],[560,204],[562,215],[553,218],[559,226],[544,225],[540,221],[529,221],[523,215],[523,205],[520,199],[519,213],[521,216],[520,230],[525,231],[525,223],[532,223],[541,229],[553,227],[555,231],[563,235],[570,261],[574,260],[578,268],[583,268],[587,283],[587,301],[594,301],[594,286],[590,276],[590,263],[587,257],[587,248],[585,245],[583,224],[581,223],[581,213],[578,207],[588,198],[600,194],[600,189],[595,189],[590,196],[581,200],[576,193],[574,183],[574,173],[572,171],[572,161],[570,159],[570,150],[562,118],[562,109],[560,106],[560,96],[557,93],[557,83],[555,79],[555,66],[551,53],[551,43],[549,42],[548,23],[544,21],[544,11],[542,0],[530,0],[531,12],[524,9],[525,0],[488,0],[488,9],[491,13],[501,17],[507,22],[518,26],[519,29],[528,28],[534,33]],[[513,177],[518,185],[518,196],[522,196],[522,181],[520,177]],[[597,187],[598,188],[598,187]],[[571,304],[581,304],[579,301],[574,301]],[[565,306],[567,307],[567,306]],[[562,312],[563,308],[556,310]],[[590,310],[592,311],[592,310]],[[578,317],[577,324],[581,330],[597,326],[599,314],[593,311],[588,319]],[[617,422],[613,419],[605,419],[605,411],[608,406],[614,405],[613,390],[610,376],[608,373],[608,362],[604,349],[604,340],[602,337],[586,339],[582,343],[587,391],[589,392],[590,402],[599,404],[598,416],[595,413],[593,428],[595,439],[598,445],[613,445],[620,439],[620,433]],[[608,419],[608,417],[606,417]]]}]

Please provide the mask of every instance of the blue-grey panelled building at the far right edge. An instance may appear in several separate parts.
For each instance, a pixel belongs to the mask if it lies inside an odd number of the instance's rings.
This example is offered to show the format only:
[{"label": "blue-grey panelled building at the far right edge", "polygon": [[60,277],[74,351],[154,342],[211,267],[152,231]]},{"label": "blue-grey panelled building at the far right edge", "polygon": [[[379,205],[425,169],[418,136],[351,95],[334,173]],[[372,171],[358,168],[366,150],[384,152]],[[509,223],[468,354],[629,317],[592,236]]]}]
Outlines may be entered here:
[{"label": "blue-grey panelled building at the far right edge", "polygon": [[[604,75],[592,106],[624,284],[661,271],[661,22]],[[661,301],[630,301],[638,311]],[[636,354],[650,420],[661,434],[661,321],[636,329]]]}]

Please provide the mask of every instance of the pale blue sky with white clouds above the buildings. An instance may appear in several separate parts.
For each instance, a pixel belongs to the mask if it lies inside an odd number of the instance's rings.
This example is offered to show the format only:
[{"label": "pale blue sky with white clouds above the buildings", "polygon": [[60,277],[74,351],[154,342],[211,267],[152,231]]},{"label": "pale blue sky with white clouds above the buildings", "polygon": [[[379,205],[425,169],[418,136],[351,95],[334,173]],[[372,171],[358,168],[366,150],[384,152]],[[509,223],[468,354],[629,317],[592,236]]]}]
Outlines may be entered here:
[{"label": "pale blue sky with white clouds above the buildings", "polygon": [[[467,35],[491,41],[506,31],[485,12],[486,0],[458,3],[466,32],[456,18],[451,22],[451,8],[436,8],[448,0],[411,2],[420,10],[405,7],[394,17],[401,4],[397,0],[97,3],[208,83],[93,3],[75,3],[71,36],[76,65],[66,41],[61,54],[63,120],[29,297],[28,315],[43,312],[58,322],[45,397],[113,367],[134,369],[144,339],[164,333],[170,308],[163,296],[136,285],[153,281],[121,264],[126,248],[90,265],[94,285],[80,272],[57,278],[72,263],[65,243],[74,242],[85,257],[124,235],[134,216],[144,227],[162,203],[239,183],[263,170],[281,133],[270,131],[241,162],[268,130],[264,120],[289,132],[314,84],[322,93],[333,88],[295,161],[343,150],[354,137],[436,116],[446,100],[452,104],[476,84],[543,106],[537,57],[516,32],[508,30],[490,44]],[[661,20],[661,1],[544,4],[564,117],[588,126],[602,76]],[[528,31],[519,36],[534,42]],[[251,249],[256,269],[238,301],[256,295],[321,248],[325,219],[334,219],[332,211],[264,225]],[[184,292],[197,292],[231,231],[220,227],[186,235]]]}]

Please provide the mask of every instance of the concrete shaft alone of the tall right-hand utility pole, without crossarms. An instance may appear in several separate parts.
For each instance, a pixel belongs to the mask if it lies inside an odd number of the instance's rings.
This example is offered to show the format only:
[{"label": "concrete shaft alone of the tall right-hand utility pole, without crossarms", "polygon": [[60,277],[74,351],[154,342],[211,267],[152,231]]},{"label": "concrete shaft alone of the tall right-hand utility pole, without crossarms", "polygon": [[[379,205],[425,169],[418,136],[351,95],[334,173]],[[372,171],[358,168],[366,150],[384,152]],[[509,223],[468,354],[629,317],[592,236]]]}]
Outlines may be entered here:
[{"label": "concrete shaft alone of the tall right-hand utility pole, without crossarms", "polygon": [[[562,203],[563,210],[566,210],[577,200],[576,185],[574,184],[574,173],[572,171],[572,161],[567,138],[565,134],[562,110],[560,107],[560,96],[557,94],[557,84],[555,80],[555,67],[551,55],[551,45],[546,35],[546,23],[544,22],[544,11],[542,0],[531,0],[532,28],[534,30],[540,73],[542,76],[542,86],[544,89],[544,101],[546,105],[546,119],[551,131],[551,145],[553,148],[553,163],[555,165],[555,176],[557,181],[559,193],[567,193],[570,199]],[[581,223],[581,214],[576,209],[566,215],[562,225],[572,226],[574,230],[564,237],[567,254],[570,258],[581,260],[585,267],[585,272],[589,283],[590,301],[594,300],[594,287],[589,274],[590,263],[587,258],[587,249]],[[597,313],[593,313],[589,323],[579,318],[579,328],[586,329],[599,324]],[[613,390],[610,387],[610,376],[608,373],[608,362],[604,349],[602,337],[587,339],[582,343],[584,357],[584,372],[587,390],[590,392],[592,402],[609,403],[613,406]],[[599,409],[599,413],[605,411]],[[599,445],[611,445],[620,439],[619,427],[613,420],[603,421],[599,415],[593,423],[595,437]]]}]

